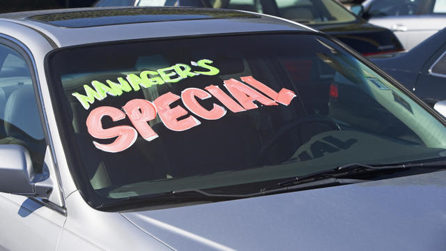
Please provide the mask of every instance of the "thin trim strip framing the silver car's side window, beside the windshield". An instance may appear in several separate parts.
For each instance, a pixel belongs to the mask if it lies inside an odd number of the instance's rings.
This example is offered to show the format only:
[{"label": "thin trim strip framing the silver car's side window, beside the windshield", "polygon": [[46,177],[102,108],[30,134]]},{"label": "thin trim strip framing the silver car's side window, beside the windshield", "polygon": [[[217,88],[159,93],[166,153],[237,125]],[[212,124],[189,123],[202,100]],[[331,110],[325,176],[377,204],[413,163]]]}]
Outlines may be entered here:
[{"label": "thin trim strip framing the silver car's side window, beside the windshield", "polygon": [[[45,131],[47,132],[48,141],[49,141],[49,149],[51,149],[52,158],[53,158],[54,167],[55,167],[54,169],[55,169],[55,172],[57,174],[58,181],[59,181],[59,182],[57,182],[58,183],[57,185],[59,185],[60,191],[62,193],[62,200],[63,200],[62,202],[63,202],[64,206],[61,207],[61,211],[66,211],[66,209],[65,209],[65,199],[64,199],[64,196],[63,196],[63,186],[62,186],[62,183],[61,183],[61,180],[62,180],[61,179],[61,174],[59,172],[59,167],[58,167],[57,160],[56,160],[56,151],[54,149],[53,139],[52,139],[52,136],[51,136],[51,132],[49,131],[48,118],[47,118],[47,114],[46,114],[45,104],[43,102],[42,88],[40,86],[39,76],[38,76],[38,72],[37,72],[37,65],[36,65],[36,61],[34,60],[33,53],[31,52],[31,50],[29,50],[28,47],[26,47],[26,45],[24,45],[24,43],[22,43],[20,40],[17,40],[16,38],[13,38],[11,36],[5,35],[3,33],[0,33],[0,38],[3,38],[5,40],[9,40],[9,41],[15,43],[16,45],[18,45],[20,48],[22,48],[22,50],[24,50],[24,52],[29,56],[29,59],[30,59],[30,61],[32,63],[34,77],[36,78],[36,87],[37,87],[38,95],[39,95],[39,99],[40,99],[40,107],[42,108],[43,120],[44,120],[44,123],[45,123]],[[57,205],[54,204],[54,206],[57,206]],[[54,208],[54,206],[51,206],[51,208]],[[57,206],[57,207],[59,207],[59,206]]]}]

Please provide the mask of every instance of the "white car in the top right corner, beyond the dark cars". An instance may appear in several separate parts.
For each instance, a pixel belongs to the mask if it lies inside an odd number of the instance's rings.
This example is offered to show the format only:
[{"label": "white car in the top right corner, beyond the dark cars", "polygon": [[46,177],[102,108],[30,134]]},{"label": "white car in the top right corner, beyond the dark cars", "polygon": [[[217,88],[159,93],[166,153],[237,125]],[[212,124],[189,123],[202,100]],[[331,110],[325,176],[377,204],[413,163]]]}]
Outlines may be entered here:
[{"label": "white car in the top right corner, beyond the dark cars", "polygon": [[406,50],[446,26],[443,0],[367,0],[351,10],[371,24],[394,31]]}]

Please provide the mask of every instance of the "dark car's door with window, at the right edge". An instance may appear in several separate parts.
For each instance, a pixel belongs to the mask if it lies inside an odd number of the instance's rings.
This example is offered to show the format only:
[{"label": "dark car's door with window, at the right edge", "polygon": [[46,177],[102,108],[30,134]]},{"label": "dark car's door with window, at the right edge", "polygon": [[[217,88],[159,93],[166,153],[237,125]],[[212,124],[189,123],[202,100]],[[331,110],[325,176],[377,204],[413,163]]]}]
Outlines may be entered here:
[{"label": "dark car's door with window, at the right edge", "polygon": [[446,43],[424,64],[415,94],[432,106],[446,100]]}]

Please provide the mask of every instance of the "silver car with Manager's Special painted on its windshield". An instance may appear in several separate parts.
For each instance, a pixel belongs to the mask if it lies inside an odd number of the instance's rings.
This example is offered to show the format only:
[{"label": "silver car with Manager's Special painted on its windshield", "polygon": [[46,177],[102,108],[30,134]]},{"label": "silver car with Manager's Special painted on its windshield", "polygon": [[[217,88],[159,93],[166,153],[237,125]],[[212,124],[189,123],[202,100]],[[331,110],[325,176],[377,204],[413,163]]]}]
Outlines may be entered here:
[{"label": "silver car with Manager's Special painted on its windshield", "polygon": [[0,250],[444,250],[446,121],[236,10],[0,16]]}]

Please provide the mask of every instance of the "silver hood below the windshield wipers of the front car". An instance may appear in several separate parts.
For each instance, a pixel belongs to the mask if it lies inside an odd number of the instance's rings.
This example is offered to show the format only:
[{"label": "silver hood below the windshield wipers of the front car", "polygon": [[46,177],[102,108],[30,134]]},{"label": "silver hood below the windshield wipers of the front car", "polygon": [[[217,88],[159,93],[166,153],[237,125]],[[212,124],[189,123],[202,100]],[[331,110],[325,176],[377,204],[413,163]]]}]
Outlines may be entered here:
[{"label": "silver hood below the windshield wipers of the front car", "polygon": [[446,172],[123,213],[176,250],[444,250]]}]

